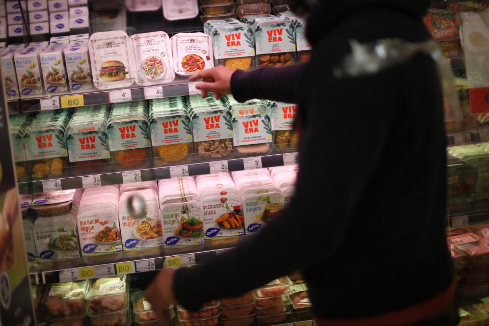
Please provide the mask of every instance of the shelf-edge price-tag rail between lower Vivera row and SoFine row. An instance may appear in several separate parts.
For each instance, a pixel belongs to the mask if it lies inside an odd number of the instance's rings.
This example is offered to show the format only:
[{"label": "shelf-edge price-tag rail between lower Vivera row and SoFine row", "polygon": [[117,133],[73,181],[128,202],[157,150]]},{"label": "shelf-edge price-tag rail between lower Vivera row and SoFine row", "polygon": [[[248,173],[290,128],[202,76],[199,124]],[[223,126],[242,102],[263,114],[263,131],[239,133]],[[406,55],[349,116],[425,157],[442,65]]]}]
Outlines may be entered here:
[{"label": "shelf-edge price-tag rail between lower Vivera row and SoFine row", "polygon": [[[175,165],[163,168],[149,168],[134,171],[101,173],[85,176],[68,176],[59,179],[33,181],[34,193],[61,191],[66,189],[88,188],[112,184],[152,181],[159,179],[176,178],[182,176],[196,176],[201,174],[254,170],[297,163],[297,153],[271,154],[265,156],[234,158],[228,160],[191,163],[188,165]],[[29,193],[29,183],[20,182],[19,192]]]}]

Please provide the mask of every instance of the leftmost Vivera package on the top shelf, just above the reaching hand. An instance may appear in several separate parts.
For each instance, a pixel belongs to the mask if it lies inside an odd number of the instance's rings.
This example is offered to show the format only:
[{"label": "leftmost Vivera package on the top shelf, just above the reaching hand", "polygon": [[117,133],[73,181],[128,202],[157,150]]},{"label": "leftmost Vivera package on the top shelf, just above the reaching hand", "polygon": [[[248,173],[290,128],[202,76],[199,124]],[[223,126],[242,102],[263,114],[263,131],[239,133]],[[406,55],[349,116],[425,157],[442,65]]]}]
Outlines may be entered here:
[{"label": "leftmost Vivera package on the top shelf, just above the reaching hand", "polygon": [[209,35],[212,37],[216,66],[248,71],[255,65],[255,42],[247,24],[216,24]]}]

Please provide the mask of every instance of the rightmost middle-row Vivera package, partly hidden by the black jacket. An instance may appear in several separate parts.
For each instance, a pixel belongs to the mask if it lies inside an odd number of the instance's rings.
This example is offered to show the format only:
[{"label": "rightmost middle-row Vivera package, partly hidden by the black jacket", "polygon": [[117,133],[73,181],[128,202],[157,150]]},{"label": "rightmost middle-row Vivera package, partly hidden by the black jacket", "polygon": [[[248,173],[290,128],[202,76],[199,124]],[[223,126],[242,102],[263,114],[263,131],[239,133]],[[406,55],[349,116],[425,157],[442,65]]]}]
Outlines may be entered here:
[{"label": "rightmost middle-row Vivera package, partly hidden by the black jacket", "polygon": [[274,102],[270,107],[271,130],[274,132],[276,149],[297,148],[298,135],[293,130],[297,104]]}]

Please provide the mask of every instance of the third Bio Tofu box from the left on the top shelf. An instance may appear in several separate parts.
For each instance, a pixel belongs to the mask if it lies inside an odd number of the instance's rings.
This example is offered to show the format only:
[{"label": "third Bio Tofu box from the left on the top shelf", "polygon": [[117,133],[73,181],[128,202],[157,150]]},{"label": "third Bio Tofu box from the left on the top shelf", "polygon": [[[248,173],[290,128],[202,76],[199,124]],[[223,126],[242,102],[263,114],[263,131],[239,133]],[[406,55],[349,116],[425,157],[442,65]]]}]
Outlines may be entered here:
[{"label": "third Bio Tofu box from the left on the top shelf", "polygon": [[66,92],[68,90],[63,62],[63,47],[61,44],[53,43],[39,53],[44,89],[48,94]]}]

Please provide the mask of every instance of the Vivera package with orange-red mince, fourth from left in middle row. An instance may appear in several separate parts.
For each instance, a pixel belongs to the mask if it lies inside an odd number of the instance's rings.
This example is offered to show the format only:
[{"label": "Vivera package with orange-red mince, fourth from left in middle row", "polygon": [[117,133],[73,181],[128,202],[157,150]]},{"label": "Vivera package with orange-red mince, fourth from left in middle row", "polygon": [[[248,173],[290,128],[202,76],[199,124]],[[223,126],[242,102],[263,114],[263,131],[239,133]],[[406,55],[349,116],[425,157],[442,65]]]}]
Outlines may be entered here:
[{"label": "Vivera package with orange-red mince, fourth from left in middle row", "polygon": [[108,119],[108,143],[114,167],[118,171],[144,168],[150,164],[148,158],[152,157],[152,153],[148,119],[142,107],[138,111],[127,114],[124,106],[120,109],[114,106]]}]

